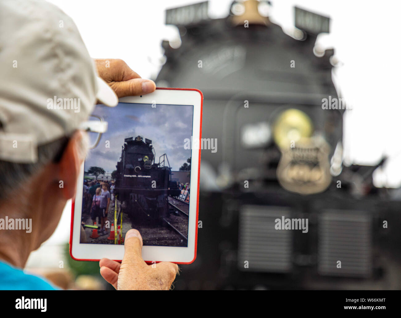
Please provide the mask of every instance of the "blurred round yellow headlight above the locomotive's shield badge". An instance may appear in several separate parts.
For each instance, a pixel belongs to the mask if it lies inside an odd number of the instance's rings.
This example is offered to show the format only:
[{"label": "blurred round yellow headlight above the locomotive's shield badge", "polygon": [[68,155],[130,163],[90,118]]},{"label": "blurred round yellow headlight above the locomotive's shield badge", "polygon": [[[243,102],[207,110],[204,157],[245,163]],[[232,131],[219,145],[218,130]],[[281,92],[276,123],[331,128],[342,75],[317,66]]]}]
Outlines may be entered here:
[{"label": "blurred round yellow headlight above the locomotive's shield badge", "polygon": [[277,146],[289,148],[292,142],[312,136],[312,120],[299,109],[291,108],[283,111],[275,120],[273,138]]}]

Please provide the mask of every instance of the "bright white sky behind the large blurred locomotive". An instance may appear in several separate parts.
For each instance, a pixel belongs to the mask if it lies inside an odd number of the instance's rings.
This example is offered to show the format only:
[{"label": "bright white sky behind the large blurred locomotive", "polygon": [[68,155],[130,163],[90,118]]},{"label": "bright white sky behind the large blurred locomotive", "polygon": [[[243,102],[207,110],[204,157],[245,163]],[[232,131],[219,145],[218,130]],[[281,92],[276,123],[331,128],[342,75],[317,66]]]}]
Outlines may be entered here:
[{"label": "bright white sky behind the large blurred locomotive", "polygon": [[[142,77],[154,79],[163,58],[161,41],[174,34],[164,26],[164,10],[200,1],[50,2],[73,18],[92,57],[124,59]],[[230,0],[209,1],[209,16],[227,16],[230,3]],[[330,16],[330,34],[321,36],[321,43],[334,47],[343,63],[336,69],[334,81],[353,107],[344,117],[345,160],[373,165],[384,154],[389,155],[393,159],[389,160],[385,173],[377,174],[375,182],[378,186],[383,182],[400,186],[400,2],[272,0],[272,3],[270,18],[283,28],[294,26],[294,5]],[[70,211],[68,204],[55,234],[45,244],[68,240]]]}]

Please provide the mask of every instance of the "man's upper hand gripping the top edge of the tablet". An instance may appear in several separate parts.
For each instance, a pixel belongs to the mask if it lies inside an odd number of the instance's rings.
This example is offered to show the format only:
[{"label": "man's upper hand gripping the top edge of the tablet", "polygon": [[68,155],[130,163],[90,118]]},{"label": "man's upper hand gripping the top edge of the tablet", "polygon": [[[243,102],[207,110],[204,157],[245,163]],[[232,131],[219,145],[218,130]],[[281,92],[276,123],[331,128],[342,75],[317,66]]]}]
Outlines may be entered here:
[{"label": "man's upper hand gripping the top edge of the tablet", "polygon": [[150,79],[142,79],[123,60],[95,59],[97,73],[115,92],[117,97],[152,93],[156,84]]}]

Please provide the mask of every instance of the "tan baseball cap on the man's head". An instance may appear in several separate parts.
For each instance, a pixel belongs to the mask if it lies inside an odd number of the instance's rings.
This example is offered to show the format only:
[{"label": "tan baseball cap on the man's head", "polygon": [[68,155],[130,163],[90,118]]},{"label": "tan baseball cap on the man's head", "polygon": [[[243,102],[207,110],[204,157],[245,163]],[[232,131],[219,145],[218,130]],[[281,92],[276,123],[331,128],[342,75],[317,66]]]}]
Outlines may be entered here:
[{"label": "tan baseball cap on the man's head", "polygon": [[0,160],[32,163],[37,147],[81,129],[96,101],[117,105],[73,20],[41,0],[0,1]]}]

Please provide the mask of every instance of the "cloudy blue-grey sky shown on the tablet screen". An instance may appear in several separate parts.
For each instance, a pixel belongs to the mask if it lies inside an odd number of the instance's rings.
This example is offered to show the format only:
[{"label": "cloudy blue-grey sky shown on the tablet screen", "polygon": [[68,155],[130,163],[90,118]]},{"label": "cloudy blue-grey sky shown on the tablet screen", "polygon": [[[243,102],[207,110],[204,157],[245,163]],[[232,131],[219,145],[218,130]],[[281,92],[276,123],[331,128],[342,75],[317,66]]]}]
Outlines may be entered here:
[{"label": "cloudy blue-grey sky shown on the tablet screen", "polygon": [[[154,108],[151,104],[119,103],[115,108],[97,105],[93,114],[103,117],[108,128],[99,145],[89,151],[85,171],[97,166],[111,173],[121,156],[124,138],[138,135],[144,141],[152,140],[156,163],[166,153],[172,170],[178,170],[191,156],[191,150],[184,149],[184,139],[192,135],[192,112],[190,105],[157,104]],[[106,148],[107,140],[110,148]]]}]

